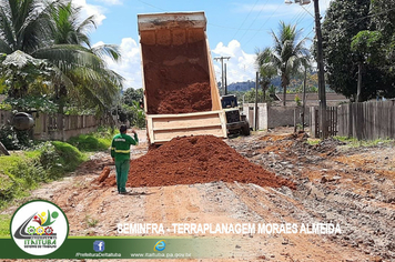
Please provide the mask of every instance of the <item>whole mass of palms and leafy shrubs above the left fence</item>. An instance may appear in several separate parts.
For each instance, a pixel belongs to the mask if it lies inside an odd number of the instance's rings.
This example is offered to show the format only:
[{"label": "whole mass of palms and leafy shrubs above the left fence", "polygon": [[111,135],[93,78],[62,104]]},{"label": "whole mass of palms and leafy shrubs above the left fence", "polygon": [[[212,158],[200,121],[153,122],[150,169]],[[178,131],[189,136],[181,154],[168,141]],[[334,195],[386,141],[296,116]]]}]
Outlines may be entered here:
[{"label": "whole mass of palms and leafy shrubs above the left fence", "polygon": [[0,91],[8,95],[6,104],[19,111],[109,114],[123,78],[105,59],[119,61],[121,54],[114,44],[92,47],[94,19],[83,18],[70,0],[2,1],[0,79],[7,81]]}]

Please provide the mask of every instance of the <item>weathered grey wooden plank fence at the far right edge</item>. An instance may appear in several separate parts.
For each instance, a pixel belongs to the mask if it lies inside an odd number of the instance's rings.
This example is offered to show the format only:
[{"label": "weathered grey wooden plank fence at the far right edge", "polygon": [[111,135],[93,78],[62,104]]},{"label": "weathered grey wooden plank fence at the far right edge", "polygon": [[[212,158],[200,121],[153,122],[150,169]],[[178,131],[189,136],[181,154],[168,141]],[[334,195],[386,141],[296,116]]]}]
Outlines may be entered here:
[{"label": "weathered grey wooden plank fence at the far right edge", "polygon": [[395,138],[395,100],[338,107],[338,134],[358,140]]}]

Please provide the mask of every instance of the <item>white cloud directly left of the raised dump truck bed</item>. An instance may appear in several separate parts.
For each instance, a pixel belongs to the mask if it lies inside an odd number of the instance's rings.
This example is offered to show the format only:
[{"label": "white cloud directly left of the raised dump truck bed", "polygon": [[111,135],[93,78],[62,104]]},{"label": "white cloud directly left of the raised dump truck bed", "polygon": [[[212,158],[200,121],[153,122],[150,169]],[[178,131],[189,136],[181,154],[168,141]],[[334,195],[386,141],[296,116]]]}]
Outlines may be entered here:
[{"label": "white cloud directly left of the raised dump truck bed", "polygon": [[[103,42],[98,42],[93,47],[103,44]],[[105,59],[109,68],[121,74],[124,81],[124,89],[142,88],[141,79],[141,59],[140,59],[140,48],[138,42],[132,38],[124,38],[120,44],[122,59],[120,62],[114,62],[110,58]]]}]

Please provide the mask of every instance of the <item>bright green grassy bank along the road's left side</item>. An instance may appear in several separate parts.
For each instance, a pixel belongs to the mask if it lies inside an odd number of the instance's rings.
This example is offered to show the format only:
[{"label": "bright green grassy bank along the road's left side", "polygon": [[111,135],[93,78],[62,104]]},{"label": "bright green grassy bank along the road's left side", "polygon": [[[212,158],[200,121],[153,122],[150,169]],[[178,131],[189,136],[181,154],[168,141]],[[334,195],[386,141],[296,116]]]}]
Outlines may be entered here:
[{"label": "bright green grassy bank along the road's left side", "polygon": [[[107,151],[117,130],[100,128],[97,132],[71,138],[68,142],[30,141],[30,148],[0,155],[0,210],[30,191],[73,172],[92,152]],[[0,236],[9,235],[9,214],[0,214]]]}]

